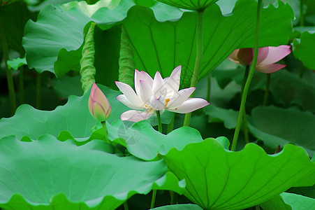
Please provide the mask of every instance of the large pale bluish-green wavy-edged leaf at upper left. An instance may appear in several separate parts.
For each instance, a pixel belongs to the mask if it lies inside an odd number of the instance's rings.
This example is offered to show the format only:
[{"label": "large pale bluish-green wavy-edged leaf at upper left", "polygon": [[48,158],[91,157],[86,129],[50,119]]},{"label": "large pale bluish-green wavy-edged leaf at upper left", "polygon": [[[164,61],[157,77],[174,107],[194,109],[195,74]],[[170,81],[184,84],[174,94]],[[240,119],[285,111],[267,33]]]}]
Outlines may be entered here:
[{"label": "large pale bluish-green wavy-edged leaf at upper left", "polygon": [[[79,48],[84,40],[85,25],[90,21],[99,22],[102,25],[113,25],[124,18],[126,11],[132,5],[133,3],[129,1],[122,1],[115,10],[101,7],[103,8],[102,15],[93,13],[96,18],[85,15],[87,12],[80,10],[79,6],[67,11],[59,5],[43,8],[38,14],[37,22],[27,22],[24,31],[23,46],[27,52],[29,67],[34,67],[38,72],[54,73],[56,71],[57,76],[62,76],[65,70],[61,71],[61,64],[55,66],[56,69],[54,69],[54,62],[57,61],[57,57],[62,59],[62,56],[68,56],[74,57],[70,63],[63,62],[68,66],[68,71],[78,71],[78,62],[81,57]],[[64,52],[59,52],[62,49]]]}]

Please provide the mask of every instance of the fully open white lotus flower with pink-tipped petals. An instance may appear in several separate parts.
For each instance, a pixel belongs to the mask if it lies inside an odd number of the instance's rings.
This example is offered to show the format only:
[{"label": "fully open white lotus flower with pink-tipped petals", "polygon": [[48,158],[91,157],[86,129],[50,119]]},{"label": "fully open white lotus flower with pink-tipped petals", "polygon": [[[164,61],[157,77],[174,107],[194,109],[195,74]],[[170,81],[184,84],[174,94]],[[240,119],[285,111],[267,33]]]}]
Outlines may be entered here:
[{"label": "fully open white lotus flower with pink-tipped petals", "polygon": [[[178,91],[180,87],[180,71],[177,66],[170,77],[162,78],[156,71],[154,79],[144,71],[135,69],[135,91],[125,83],[115,82],[123,93],[117,99],[131,109],[120,117],[122,120],[139,122],[147,120],[155,111],[168,111],[176,113],[189,113],[207,106],[205,99],[189,98],[196,87],[189,87]],[[140,111],[144,110],[144,111]]]}]

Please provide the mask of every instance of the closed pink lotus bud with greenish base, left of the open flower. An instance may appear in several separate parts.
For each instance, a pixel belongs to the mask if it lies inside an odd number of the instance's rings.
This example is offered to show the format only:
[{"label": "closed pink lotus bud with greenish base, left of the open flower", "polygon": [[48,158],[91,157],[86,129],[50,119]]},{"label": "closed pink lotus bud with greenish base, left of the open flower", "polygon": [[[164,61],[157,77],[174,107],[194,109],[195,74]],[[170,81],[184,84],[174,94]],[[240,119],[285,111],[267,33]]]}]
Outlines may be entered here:
[{"label": "closed pink lotus bud with greenish base, left of the open flower", "polygon": [[102,90],[93,83],[89,94],[89,112],[98,121],[104,122],[110,117],[110,102]]}]

